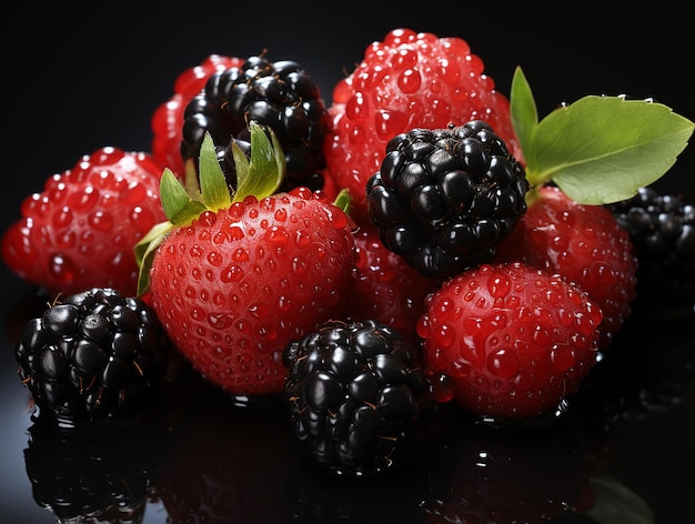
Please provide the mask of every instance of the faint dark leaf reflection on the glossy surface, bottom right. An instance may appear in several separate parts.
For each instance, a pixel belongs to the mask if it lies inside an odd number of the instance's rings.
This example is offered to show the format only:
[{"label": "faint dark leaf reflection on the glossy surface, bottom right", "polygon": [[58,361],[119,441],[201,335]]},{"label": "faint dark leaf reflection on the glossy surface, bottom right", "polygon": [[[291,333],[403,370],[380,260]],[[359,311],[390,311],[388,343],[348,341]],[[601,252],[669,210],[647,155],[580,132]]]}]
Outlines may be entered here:
[{"label": "faint dark leaf reflection on the glossy surface, bottom right", "polygon": [[623,483],[610,477],[590,480],[594,506],[585,513],[597,524],[654,524],[647,504]]}]

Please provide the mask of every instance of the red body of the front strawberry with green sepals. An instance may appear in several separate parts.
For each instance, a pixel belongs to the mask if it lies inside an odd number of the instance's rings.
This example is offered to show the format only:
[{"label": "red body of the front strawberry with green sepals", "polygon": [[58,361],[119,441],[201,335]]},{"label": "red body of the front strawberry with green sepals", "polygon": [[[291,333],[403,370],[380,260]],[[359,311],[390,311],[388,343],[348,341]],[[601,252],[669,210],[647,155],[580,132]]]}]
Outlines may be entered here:
[{"label": "red body of the front strawberry with green sepals", "polygon": [[164,239],[150,296],[207,380],[234,395],[280,394],[284,346],[345,314],[354,258],[348,216],[323,193],[248,196]]}]

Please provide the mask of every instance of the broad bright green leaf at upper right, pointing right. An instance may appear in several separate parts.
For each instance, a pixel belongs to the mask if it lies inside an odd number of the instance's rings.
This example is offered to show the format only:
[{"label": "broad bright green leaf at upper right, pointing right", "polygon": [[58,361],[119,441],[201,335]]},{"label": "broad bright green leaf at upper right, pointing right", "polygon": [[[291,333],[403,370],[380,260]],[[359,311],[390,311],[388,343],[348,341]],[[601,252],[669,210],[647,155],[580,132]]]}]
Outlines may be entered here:
[{"label": "broad bright green leaf at upper right, pointing right", "polygon": [[551,112],[531,135],[525,118],[518,120],[528,181],[552,180],[586,204],[625,200],[659,179],[694,129],[664,104],[622,97],[584,97]]}]

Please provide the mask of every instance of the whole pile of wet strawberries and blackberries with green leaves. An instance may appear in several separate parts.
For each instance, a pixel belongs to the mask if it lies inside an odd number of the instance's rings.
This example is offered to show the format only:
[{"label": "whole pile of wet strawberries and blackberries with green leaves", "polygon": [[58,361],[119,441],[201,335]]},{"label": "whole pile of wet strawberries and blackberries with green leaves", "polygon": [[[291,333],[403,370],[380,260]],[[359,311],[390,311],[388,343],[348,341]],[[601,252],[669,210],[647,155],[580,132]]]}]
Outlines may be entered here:
[{"label": "whole pile of wet strawberries and blackberries with green leaves", "polygon": [[653,274],[694,302],[693,205],[646,189],[674,159],[621,184],[584,137],[610,158],[632,134],[570,123],[659,119],[642,140],[666,129],[674,157],[694,124],[612,97],[538,121],[521,70],[507,100],[483,69],[460,38],[401,29],[328,105],[291,60],[182,72],[152,153],[84,157],[2,238],[19,276],[62,295],[17,349],[37,405],[132,413],[172,344],[229,395],[284,397],[308,454],[354,476],[407,462],[437,404],[562,412]]}]

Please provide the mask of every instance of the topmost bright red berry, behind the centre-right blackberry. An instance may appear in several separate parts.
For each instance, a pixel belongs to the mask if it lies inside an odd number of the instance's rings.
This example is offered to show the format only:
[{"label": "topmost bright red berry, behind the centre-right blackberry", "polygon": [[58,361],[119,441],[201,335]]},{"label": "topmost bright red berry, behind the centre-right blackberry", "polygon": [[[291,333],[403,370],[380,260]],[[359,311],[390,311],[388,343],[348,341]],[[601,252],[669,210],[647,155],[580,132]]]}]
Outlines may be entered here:
[{"label": "topmost bright red berry, behind the centre-right blackberry", "polygon": [[411,29],[390,31],[333,89],[326,167],[348,188],[357,222],[367,222],[366,181],[379,171],[386,144],[414,128],[446,128],[483,119],[522,159],[508,100],[484,63],[460,38]]}]

